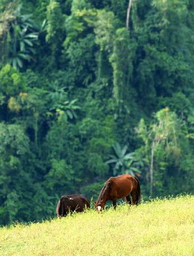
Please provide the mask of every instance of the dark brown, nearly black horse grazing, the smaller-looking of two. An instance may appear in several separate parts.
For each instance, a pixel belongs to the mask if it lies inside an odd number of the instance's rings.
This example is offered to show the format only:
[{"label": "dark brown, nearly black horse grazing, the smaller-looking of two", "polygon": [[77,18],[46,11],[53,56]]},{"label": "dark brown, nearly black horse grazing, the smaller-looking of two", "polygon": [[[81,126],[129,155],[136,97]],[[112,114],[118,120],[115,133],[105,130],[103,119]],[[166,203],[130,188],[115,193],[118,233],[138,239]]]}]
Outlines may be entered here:
[{"label": "dark brown, nearly black horse grazing, the smaller-looking of two", "polygon": [[90,202],[84,195],[63,195],[57,204],[58,217],[66,216],[69,212],[83,212],[90,208]]}]

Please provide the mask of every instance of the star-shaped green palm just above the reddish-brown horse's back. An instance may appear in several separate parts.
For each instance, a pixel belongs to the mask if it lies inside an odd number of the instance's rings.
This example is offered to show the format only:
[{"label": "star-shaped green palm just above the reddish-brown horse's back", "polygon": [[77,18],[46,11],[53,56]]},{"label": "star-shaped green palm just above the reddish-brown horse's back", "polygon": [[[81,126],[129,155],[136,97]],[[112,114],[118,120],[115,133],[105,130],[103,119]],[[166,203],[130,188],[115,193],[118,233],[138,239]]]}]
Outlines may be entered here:
[{"label": "star-shaped green palm just above the reddish-brown horse's back", "polygon": [[138,161],[135,152],[127,153],[128,145],[123,148],[116,142],[113,145],[114,154],[110,154],[110,159],[106,162],[113,165],[113,175],[130,173],[135,176],[140,175],[139,167],[142,166],[142,161]]}]

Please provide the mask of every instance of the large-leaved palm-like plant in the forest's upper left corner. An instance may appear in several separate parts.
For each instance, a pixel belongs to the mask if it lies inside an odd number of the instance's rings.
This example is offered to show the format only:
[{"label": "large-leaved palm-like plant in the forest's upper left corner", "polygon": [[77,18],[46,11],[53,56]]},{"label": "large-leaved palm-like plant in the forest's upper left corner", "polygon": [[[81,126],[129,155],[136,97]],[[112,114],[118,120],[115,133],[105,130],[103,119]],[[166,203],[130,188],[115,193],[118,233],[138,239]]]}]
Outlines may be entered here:
[{"label": "large-leaved palm-like plant in the forest's upper left corner", "polygon": [[38,26],[31,20],[32,15],[22,15],[21,5],[15,10],[11,7],[8,6],[8,10],[4,11],[6,23],[0,33],[2,45],[7,47],[2,59],[13,67],[21,69],[25,63],[34,61],[35,45],[38,43]]}]

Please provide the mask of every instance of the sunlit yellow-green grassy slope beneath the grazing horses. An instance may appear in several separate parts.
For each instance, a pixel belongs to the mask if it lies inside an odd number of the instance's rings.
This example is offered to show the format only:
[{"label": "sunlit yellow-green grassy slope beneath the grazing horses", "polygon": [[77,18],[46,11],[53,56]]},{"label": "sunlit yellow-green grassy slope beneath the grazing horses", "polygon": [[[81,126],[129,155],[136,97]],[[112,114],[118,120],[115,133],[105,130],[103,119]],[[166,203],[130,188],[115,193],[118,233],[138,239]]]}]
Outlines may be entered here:
[{"label": "sunlit yellow-green grassy slope beneath the grazing horses", "polygon": [[0,255],[194,255],[194,196],[0,228]]}]

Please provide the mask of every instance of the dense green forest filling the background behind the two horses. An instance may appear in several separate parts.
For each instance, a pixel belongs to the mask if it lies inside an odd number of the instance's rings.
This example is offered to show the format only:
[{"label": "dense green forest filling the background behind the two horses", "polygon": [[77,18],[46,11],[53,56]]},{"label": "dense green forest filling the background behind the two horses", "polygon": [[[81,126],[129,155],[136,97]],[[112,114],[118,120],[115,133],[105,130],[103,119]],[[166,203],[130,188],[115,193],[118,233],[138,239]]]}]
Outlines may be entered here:
[{"label": "dense green forest filling the background behind the two horses", "polygon": [[0,225],[132,173],[191,193],[192,0],[0,0]]}]

